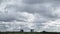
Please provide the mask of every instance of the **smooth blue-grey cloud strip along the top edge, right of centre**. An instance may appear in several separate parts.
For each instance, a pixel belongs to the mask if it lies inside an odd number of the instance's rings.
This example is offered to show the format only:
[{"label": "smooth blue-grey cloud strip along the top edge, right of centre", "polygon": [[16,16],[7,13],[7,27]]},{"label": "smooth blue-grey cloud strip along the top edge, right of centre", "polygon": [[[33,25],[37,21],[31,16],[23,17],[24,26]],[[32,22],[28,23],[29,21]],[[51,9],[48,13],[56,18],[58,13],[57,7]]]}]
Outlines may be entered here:
[{"label": "smooth blue-grey cloud strip along the top edge, right of centre", "polygon": [[56,3],[60,0],[23,0],[24,3],[28,4],[40,4],[40,3]]}]

